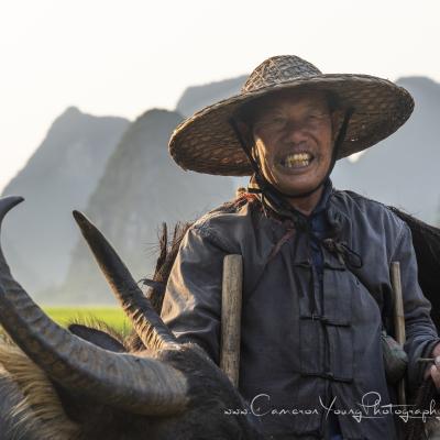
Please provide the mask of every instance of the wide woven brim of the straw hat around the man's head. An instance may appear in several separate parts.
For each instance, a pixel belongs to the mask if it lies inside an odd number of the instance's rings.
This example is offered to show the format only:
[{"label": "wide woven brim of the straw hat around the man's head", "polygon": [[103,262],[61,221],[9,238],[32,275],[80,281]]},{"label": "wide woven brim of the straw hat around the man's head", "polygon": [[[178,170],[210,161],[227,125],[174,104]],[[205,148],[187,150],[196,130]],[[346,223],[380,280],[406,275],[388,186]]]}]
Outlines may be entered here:
[{"label": "wide woven brim of the straw hat around the man's head", "polygon": [[285,89],[328,90],[342,108],[353,109],[338,158],[365,150],[394,133],[414,109],[410,94],[394,82],[370,75],[329,74],[295,79],[244,92],[206,107],[173,132],[169,153],[184,169],[246,176],[251,164],[230,124],[244,103]]}]

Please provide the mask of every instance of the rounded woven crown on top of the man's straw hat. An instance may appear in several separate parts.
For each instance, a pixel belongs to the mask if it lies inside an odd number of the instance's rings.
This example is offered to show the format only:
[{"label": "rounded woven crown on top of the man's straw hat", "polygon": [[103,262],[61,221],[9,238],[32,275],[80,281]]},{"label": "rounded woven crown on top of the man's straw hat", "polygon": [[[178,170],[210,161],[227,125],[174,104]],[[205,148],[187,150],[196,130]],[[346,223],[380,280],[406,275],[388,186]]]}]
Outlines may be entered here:
[{"label": "rounded woven crown on top of the man's straw hat", "polygon": [[322,75],[311,63],[296,55],[278,55],[265,59],[249,76],[242,92],[255,91],[264,87]]}]

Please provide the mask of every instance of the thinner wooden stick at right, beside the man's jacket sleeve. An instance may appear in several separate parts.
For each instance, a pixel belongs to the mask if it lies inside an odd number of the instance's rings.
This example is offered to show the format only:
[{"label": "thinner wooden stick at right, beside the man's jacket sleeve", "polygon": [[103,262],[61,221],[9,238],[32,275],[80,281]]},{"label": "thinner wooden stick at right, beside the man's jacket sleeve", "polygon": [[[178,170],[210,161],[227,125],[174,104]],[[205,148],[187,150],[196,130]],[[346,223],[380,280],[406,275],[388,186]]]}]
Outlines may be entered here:
[{"label": "thinner wooden stick at right, beside the man's jacket sleeve", "polygon": [[[393,311],[394,311],[394,331],[396,341],[403,346],[406,340],[405,334],[405,312],[404,298],[402,295],[400,263],[392,262],[392,287],[393,287]],[[399,405],[406,405],[405,378],[397,384],[397,398]]]}]

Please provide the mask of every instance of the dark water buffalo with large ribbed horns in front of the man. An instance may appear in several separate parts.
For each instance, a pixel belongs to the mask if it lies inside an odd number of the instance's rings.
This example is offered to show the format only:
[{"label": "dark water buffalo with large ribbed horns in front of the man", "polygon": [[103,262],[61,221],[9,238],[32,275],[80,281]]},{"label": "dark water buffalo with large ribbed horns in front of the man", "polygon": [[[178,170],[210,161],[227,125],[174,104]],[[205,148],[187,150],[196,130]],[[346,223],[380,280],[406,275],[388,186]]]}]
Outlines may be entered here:
[{"label": "dark water buffalo with large ribbed horns in front of the man", "polygon": [[[0,200],[0,227],[20,201]],[[411,228],[420,284],[439,327],[440,231],[395,212]],[[162,243],[146,297],[103,235],[74,216],[135,333],[123,340],[102,326],[57,326],[13,279],[0,246],[0,323],[8,332],[0,340],[0,440],[262,440],[258,420],[228,377],[197,344],[179,343],[157,314],[185,228],[169,253]],[[417,405],[433,394],[426,382]],[[407,439],[422,438],[422,424],[408,428]]]}]

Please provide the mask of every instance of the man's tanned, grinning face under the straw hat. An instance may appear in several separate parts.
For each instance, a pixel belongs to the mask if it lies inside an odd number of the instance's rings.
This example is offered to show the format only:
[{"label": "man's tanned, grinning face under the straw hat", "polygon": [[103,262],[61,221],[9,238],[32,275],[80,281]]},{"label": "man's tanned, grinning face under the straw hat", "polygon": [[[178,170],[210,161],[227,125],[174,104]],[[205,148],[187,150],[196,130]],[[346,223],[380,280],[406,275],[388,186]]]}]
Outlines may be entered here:
[{"label": "man's tanned, grinning face under the straw hat", "polygon": [[265,178],[294,195],[316,188],[331,163],[333,122],[323,92],[290,91],[260,102],[252,135]]}]

